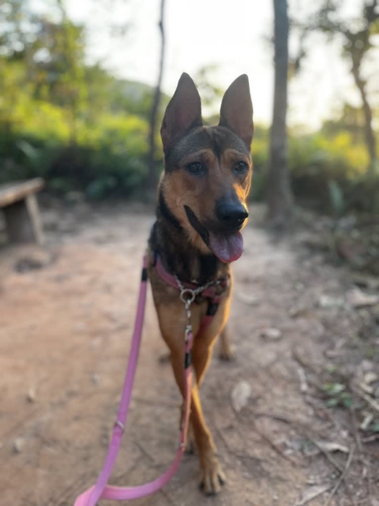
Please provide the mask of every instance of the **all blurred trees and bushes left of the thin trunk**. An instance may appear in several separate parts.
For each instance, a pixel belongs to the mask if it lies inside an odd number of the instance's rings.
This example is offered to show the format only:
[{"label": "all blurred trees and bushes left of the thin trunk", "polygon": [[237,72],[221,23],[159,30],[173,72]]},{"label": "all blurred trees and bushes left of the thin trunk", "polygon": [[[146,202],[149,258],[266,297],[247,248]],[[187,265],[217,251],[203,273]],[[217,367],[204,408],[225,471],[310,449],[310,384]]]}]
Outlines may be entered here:
[{"label": "all blurred trees and bushes left of the thin trunk", "polygon": [[86,65],[83,27],[61,0],[51,7],[0,2],[0,183],[41,176],[56,193],[130,195],[146,183],[152,90]]}]

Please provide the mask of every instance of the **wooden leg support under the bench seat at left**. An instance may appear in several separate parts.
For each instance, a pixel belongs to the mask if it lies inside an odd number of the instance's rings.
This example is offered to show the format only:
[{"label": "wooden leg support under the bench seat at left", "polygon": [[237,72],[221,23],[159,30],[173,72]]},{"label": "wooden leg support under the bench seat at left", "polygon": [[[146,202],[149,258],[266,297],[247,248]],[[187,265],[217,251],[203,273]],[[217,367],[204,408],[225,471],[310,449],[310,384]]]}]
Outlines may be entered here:
[{"label": "wooden leg support under the bench seat at left", "polygon": [[7,234],[10,242],[37,242],[42,244],[43,233],[38,203],[34,194],[4,209]]}]

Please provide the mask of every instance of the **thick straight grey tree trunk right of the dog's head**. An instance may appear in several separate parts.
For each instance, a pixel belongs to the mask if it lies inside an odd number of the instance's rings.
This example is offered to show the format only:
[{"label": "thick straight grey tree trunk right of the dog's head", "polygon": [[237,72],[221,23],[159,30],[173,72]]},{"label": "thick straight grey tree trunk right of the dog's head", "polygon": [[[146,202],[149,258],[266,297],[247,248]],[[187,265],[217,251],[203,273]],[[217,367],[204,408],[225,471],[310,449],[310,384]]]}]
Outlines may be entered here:
[{"label": "thick straight grey tree trunk right of the dog's head", "polygon": [[287,81],[288,81],[287,0],[274,0],[274,107],[270,132],[267,181],[268,218],[284,227],[292,216],[293,198],[287,167]]}]

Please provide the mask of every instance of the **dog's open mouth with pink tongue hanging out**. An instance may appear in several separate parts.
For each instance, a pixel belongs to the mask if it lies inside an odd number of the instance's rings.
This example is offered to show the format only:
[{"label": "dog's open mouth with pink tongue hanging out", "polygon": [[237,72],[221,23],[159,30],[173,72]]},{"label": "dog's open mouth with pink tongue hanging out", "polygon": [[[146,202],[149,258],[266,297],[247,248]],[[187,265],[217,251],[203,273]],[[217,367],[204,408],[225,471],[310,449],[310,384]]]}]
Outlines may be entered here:
[{"label": "dog's open mouth with pink tongue hanging out", "polygon": [[238,260],[241,257],[244,250],[244,239],[240,231],[212,232],[199,222],[191,207],[185,205],[184,209],[189,223],[191,223],[209,249],[213,251],[221,262],[234,262],[234,260]]}]

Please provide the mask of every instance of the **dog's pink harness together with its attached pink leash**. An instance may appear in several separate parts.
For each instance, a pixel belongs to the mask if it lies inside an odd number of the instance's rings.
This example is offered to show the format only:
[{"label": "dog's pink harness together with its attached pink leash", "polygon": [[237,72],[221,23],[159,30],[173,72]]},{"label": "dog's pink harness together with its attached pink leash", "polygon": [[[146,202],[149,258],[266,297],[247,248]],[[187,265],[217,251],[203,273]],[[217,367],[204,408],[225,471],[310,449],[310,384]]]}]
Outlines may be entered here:
[{"label": "dog's pink harness together with its attached pink leash", "polygon": [[184,381],[185,381],[185,395],[184,395],[184,413],[182,428],[179,438],[179,446],[176,451],[175,459],[171,467],[156,480],[139,485],[136,487],[116,487],[108,485],[108,480],[111,476],[112,469],[120,448],[124,428],[126,424],[126,418],[131,398],[131,391],[133,388],[135,368],[138,360],[139,345],[141,341],[141,333],[144,322],[145,314],[145,303],[146,303],[146,290],[147,290],[147,260],[144,256],[143,269],[141,277],[141,285],[139,288],[137,314],[134,322],[134,331],[131,342],[130,355],[128,365],[126,369],[124,386],[122,390],[121,401],[118,409],[116,423],[113,428],[113,434],[111,442],[108,447],[107,456],[104,462],[104,466],[96,485],[90,487],[88,490],[80,494],[74,506],[95,506],[99,499],[113,499],[113,500],[126,500],[126,499],[137,499],[139,497],[145,497],[146,495],[153,494],[173,477],[176,470],[179,467],[180,459],[185,448],[185,438],[188,429],[189,421],[189,407],[191,404],[191,349],[193,343],[193,333],[191,326],[191,304],[195,301],[196,297],[201,294],[209,300],[208,312],[203,319],[199,333],[210,323],[210,320],[217,311],[218,304],[221,300],[221,293],[218,293],[218,286],[221,286],[223,291],[228,285],[228,278],[213,281],[204,286],[195,284],[185,283],[182,284],[176,276],[169,274],[163,267],[160,258],[155,256],[154,265],[157,268],[159,276],[166,281],[167,284],[180,290],[180,300],[184,304],[184,309],[187,315],[187,326],[185,328],[184,337]]}]

